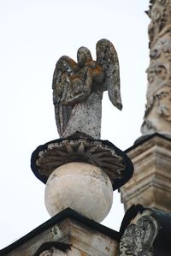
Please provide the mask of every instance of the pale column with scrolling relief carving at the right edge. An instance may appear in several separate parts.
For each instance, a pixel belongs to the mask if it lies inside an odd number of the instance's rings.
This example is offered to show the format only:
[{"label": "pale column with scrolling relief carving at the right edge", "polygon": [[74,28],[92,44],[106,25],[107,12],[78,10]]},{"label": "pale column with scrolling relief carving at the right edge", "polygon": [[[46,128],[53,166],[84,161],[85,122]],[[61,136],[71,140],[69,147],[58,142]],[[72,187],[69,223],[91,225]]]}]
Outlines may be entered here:
[{"label": "pale column with scrolling relief carving at the right edge", "polygon": [[150,1],[150,67],[142,134],[171,136],[171,1]]}]

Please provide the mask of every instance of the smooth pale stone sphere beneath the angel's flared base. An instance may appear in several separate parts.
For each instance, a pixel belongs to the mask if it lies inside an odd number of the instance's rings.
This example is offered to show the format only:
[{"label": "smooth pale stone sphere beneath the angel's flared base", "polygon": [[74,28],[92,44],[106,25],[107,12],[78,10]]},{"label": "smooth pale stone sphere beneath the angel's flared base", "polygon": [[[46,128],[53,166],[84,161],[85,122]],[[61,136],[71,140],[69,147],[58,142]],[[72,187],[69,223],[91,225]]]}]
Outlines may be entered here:
[{"label": "smooth pale stone sphere beneath the angel's flared base", "polygon": [[101,222],[113,202],[109,177],[95,165],[74,162],[54,170],[45,187],[45,206],[50,216],[70,207]]}]

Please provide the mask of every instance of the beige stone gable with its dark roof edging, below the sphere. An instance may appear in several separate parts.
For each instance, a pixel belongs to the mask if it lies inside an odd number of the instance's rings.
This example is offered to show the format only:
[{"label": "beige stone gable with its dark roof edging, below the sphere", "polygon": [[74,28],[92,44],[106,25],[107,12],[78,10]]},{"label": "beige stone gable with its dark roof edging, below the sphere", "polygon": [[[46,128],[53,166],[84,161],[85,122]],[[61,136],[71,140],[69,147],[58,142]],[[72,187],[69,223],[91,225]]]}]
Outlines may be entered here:
[{"label": "beige stone gable with its dark roof edging, below the sphere", "polygon": [[120,234],[68,208],[0,250],[0,256],[33,256],[42,244],[55,241],[72,244],[82,255],[115,256]]}]

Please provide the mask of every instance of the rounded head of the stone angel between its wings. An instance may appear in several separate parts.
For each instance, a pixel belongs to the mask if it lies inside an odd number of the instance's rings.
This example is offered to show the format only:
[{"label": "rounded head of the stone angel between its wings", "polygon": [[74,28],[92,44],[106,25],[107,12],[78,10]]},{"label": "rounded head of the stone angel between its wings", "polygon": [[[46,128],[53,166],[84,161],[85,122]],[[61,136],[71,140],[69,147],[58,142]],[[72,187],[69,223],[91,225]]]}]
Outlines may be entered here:
[{"label": "rounded head of the stone angel between its wings", "polygon": [[83,67],[85,63],[91,62],[91,60],[91,51],[84,46],[80,47],[77,51],[77,62],[79,66]]}]

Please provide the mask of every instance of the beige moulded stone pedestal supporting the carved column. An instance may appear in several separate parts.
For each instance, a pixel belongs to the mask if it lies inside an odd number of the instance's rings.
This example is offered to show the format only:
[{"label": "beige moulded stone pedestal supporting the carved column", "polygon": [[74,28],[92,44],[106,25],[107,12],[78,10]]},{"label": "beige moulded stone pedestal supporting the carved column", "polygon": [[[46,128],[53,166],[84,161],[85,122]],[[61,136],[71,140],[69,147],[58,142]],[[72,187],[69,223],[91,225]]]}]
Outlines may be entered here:
[{"label": "beige moulded stone pedestal supporting the carved column", "polygon": [[127,150],[133,178],[121,188],[125,210],[141,204],[171,211],[171,140],[153,135]]}]

